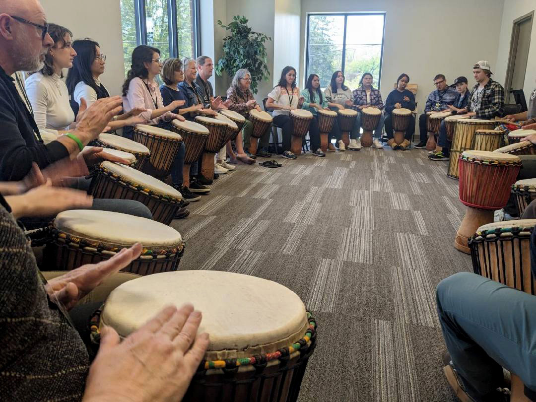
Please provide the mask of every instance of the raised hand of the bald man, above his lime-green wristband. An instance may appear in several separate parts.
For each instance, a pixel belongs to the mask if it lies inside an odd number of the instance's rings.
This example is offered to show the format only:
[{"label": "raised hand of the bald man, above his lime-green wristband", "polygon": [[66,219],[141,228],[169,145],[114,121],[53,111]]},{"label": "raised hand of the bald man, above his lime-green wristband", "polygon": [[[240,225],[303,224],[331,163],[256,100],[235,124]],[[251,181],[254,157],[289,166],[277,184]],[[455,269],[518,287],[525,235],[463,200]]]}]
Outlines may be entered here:
[{"label": "raised hand of the bald man, above his lime-green wristband", "polygon": [[[75,134],[82,133],[82,137],[93,140],[106,128],[112,117],[122,110],[121,96],[102,98],[91,105],[78,122]],[[80,138],[80,136],[79,136]]]}]

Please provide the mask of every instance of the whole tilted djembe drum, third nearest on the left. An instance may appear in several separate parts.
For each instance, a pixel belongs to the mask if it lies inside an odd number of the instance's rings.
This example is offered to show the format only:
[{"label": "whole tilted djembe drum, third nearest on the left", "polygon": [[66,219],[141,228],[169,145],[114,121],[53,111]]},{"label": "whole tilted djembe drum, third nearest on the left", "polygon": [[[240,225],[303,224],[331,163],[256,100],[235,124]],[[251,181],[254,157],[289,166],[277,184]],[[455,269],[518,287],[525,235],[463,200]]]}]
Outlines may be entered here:
[{"label": "whole tilted djembe drum, third nearest on the left", "polygon": [[182,194],[158,178],[129,166],[104,161],[95,169],[88,191],[95,198],[133,199],[145,204],[153,219],[169,225],[183,204]]}]

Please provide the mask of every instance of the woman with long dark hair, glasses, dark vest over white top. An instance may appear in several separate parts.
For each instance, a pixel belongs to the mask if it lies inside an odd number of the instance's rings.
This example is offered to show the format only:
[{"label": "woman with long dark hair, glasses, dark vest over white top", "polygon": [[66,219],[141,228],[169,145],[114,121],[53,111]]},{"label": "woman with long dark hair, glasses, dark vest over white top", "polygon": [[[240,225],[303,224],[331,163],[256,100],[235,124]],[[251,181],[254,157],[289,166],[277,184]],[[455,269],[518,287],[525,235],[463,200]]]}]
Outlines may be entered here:
[{"label": "woman with long dark hair, glasses, dark vest over white top", "polygon": [[[90,107],[98,99],[109,98],[110,94],[100,80],[105,71],[106,56],[101,53],[99,43],[86,38],[74,41],[72,47],[77,56],[69,69],[66,84],[71,96],[71,108],[76,116],[82,99],[85,100],[86,107]],[[129,113],[117,116],[108,125],[115,130],[125,125],[144,123],[143,117],[136,117],[142,111],[145,109],[133,109]]]}]

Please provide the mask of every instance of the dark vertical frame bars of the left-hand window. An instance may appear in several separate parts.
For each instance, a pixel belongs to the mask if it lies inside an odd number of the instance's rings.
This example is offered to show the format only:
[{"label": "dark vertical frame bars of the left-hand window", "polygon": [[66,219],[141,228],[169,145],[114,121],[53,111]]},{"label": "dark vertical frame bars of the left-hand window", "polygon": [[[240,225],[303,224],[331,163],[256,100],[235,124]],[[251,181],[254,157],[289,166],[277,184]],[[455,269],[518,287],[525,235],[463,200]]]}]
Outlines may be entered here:
[{"label": "dark vertical frame bars of the left-hand window", "polygon": [[[199,27],[199,0],[193,0],[193,57],[199,56],[201,51],[201,35]],[[178,57],[178,35],[177,35],[177,0],[167,0],[168,9],[168,43],[170,57]],[[145,11],[145,0],[134,0],[134,11],[136,19],[136,43],[147,44],[147,19]]]}]

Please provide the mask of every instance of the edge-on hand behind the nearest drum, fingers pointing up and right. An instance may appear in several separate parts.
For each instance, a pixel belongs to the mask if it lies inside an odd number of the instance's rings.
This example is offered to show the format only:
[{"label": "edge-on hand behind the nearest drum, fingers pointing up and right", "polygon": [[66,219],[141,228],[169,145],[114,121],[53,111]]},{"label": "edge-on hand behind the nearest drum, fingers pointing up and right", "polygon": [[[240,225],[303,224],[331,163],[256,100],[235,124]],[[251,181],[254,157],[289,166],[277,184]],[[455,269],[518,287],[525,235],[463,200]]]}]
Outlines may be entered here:
[{"label": "edge-on hand behind the nearest drum, fingers pointing up and right", "polygon": [[82,297],[99,286],[111,274],[128,266],[141,253],[142,244],[136,243],[130,248],[122,249],[110,259],[98,264],[82,265],[61,277],[49,280],[45,289],[50,299],[59,301],[70,310]]}]

